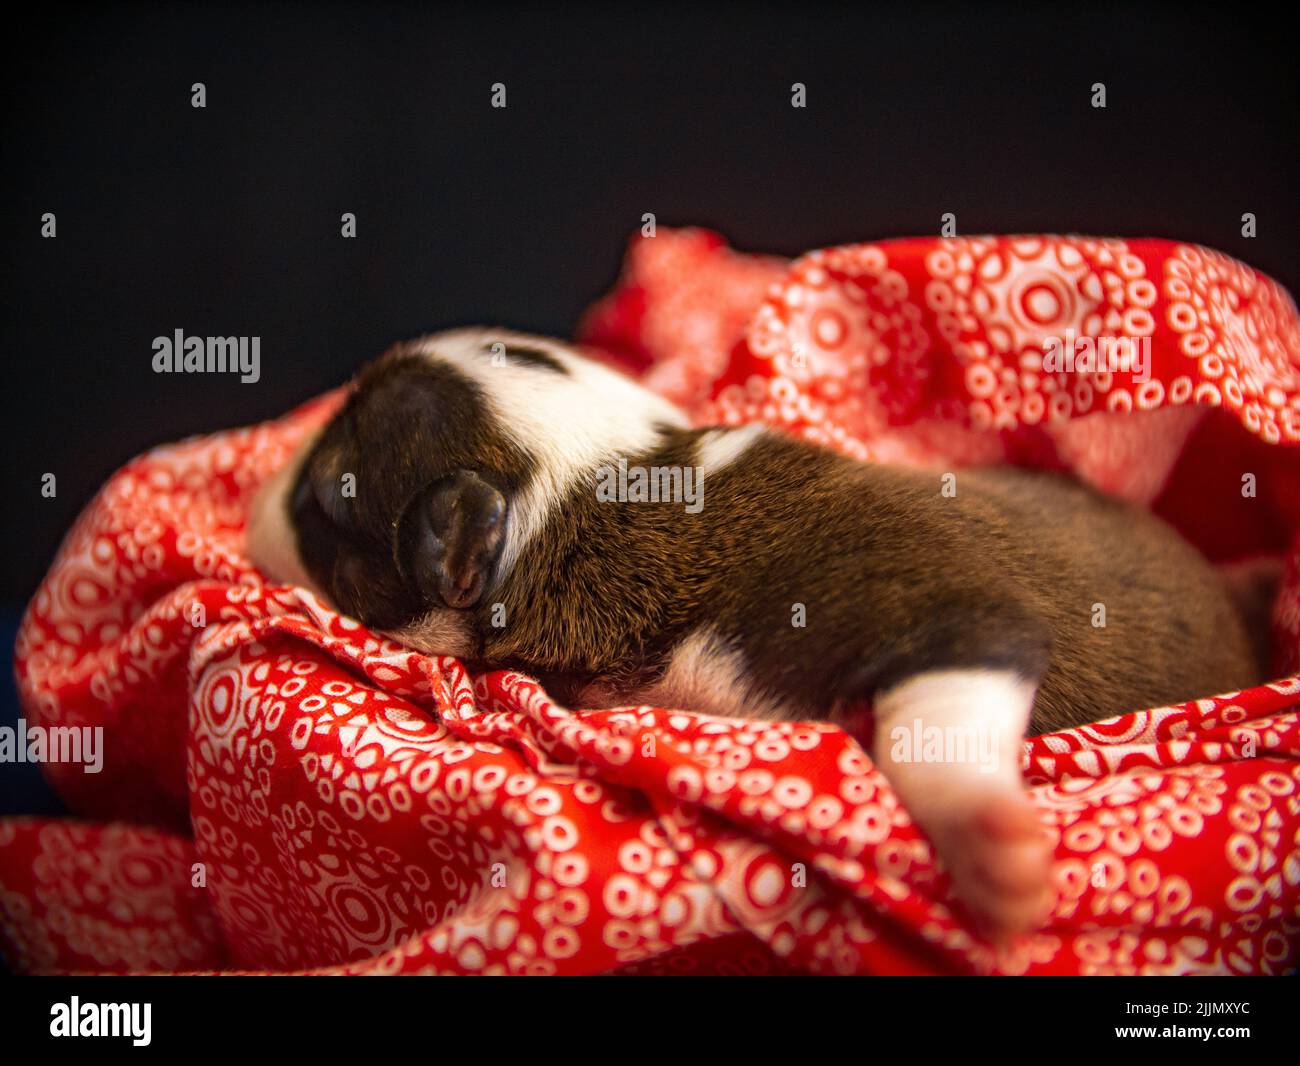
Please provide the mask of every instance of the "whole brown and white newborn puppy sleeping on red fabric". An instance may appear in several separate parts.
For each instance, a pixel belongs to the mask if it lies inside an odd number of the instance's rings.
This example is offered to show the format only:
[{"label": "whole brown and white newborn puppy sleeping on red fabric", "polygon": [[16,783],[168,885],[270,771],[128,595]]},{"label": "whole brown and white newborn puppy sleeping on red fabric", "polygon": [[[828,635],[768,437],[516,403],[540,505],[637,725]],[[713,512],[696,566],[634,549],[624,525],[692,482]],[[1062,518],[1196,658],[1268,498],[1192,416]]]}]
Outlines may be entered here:
[{"label": "whole brown and white newborn puppy sleeping on red fabric", "polygon": [[1258,679],[1218,573],[1139,508],[1048,474],[953,480],[696,429],[500,330],[367,367],[248,537],[269,577],[575,707],[849,728],[870,708],[876,764],[998,937],[1052,901],[1026,732]]}]

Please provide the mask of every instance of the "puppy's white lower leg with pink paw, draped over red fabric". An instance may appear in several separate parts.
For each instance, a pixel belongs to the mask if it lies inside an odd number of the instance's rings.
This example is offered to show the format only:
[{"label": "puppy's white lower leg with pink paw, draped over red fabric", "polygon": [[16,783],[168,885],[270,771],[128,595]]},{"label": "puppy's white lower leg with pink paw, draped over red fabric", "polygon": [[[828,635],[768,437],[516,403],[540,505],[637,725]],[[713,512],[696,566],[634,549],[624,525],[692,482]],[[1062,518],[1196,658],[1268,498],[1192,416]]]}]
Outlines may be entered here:
[{"label": "puppy's white lower leg with pink paw, draped over red fabric", "polygon": [[1052,849],[1020,779],[1035,682],[1005,668],[911,673],[876,693],[872,757],[994,939],[1037,928]]}]

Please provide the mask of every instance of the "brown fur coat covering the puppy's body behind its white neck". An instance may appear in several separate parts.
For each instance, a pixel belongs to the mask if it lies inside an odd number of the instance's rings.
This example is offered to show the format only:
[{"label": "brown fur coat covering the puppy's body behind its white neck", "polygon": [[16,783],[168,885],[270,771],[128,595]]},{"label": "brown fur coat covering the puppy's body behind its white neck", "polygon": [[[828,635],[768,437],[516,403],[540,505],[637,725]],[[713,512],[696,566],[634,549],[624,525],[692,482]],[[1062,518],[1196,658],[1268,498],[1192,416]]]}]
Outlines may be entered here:
[{"label": "brown fur coat covering the puppy's body behind its white neck", "polygon": [[[629,463],[689,465],[697,437]],[[576,490],[495,599],[489,662],[634,688],[708,625],[809,716],[945,667],[1040,680],[1039,732],[1257,677],[1218,575],[1139,508],[1014,471],[959,473],[948,498],[937,473],[776,436],[706,478],[698,515]]]}]

